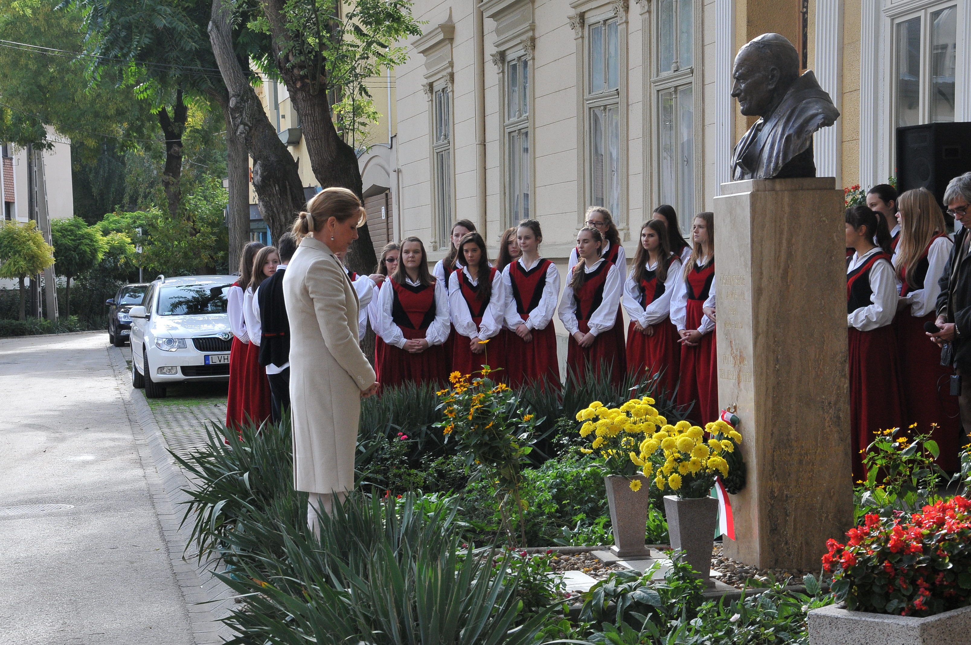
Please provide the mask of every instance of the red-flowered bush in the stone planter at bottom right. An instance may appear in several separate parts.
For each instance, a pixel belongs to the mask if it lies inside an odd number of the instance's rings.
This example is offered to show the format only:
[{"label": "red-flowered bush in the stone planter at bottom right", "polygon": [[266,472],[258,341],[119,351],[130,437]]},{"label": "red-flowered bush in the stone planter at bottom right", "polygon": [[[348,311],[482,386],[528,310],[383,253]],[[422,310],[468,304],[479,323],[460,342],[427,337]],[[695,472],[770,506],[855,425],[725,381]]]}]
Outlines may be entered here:
[{"label": "red-flowered bush in the stone planter at bottom right", "polygon": [[867,515],[849,542],[826,542],[823,568],[847,608],[933,616],[971,604],[971,501],[957,496],[921,513]]}]

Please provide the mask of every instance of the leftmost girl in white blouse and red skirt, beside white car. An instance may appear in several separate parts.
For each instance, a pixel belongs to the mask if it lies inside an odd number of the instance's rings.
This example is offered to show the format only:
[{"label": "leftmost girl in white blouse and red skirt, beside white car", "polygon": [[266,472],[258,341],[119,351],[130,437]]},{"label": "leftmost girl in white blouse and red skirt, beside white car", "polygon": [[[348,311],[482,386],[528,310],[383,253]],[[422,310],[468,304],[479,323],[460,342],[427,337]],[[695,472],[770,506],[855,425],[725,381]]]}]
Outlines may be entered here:
[{"label": "leftmost girl in white blouse and red skirt, beside white car", "polygon": [[[246,326],[246,289],[252,279],[252,263],[256,254],[266,245],[251,242],[243,247],[240,257],[240,279],[226,292],[226,314],[229,328],[233,332],[233,344],[229,351],[229,394],[226,400],[226,427],[240,428],[260,415],[261,392],[258,377],[266,380],[266,372],[257,360],[250,365],[250,335]],[[258,357],[258,355],[257,355]],[[267,381],[266,395],[269,396],[270,384]],[[267,399],[269,401],[269,399]],[[267,402],[266,410],[270,410]],[[269,416],[269,412],[267,412]],[[262,421],[262,419],[260,419]],[[257,422],[259,423],[259,422]]]}]

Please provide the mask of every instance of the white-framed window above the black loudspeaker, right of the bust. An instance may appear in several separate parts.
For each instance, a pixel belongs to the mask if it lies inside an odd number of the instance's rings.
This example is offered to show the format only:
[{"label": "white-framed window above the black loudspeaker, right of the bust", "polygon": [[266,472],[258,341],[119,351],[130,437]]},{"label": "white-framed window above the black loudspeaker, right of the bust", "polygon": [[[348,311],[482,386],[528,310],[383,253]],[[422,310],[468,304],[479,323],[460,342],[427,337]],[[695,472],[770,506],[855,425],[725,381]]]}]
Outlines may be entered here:
[{"label": "white-framed window above the black loudspeaker, right of the bust", "polygon": [[957,5],[941,3],[893,24],[896,125],[954,120]]}]

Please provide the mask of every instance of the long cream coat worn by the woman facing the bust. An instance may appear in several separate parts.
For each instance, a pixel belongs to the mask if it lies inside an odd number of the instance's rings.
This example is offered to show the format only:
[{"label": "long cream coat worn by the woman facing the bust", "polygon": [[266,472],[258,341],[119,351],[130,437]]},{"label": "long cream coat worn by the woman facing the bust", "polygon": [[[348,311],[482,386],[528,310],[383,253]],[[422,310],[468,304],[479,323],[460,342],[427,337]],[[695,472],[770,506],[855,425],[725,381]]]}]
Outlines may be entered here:
[{"label": "long cream coat worn by the woman facing the bust", "polygon": [[375,382],[357,345],[357,293],[337,256],[305,237],[286,266],[293,488],[351,491],[360,392]]}]

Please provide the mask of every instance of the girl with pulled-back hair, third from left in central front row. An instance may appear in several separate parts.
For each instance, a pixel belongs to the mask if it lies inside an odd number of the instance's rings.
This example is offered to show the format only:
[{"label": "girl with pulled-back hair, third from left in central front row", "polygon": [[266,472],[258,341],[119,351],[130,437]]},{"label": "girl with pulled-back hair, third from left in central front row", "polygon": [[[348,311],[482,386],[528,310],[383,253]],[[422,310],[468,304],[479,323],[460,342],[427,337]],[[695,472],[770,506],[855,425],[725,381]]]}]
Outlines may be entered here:
[{"label": "girl with pulled-back hair, third from left in central front row", "polygon": [[552,315],[559,298],[559,271],[552,261],[540,257],[539,221],[520,221],[516,236],[522,255],[502,272],[506,327],[511,332],[506,345],[509,384],[519,388],[539,382],[558,389]]}]

